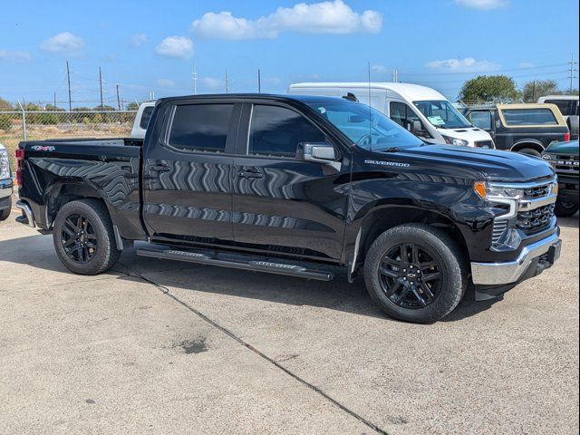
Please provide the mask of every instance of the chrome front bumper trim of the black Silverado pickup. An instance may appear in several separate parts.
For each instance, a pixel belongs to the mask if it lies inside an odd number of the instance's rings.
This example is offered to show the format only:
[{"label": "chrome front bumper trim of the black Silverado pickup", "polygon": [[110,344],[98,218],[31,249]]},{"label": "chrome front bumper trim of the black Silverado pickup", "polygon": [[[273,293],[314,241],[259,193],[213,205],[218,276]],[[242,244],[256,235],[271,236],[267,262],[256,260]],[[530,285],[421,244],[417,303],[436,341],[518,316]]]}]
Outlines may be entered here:
[{"label": "chrome front bumper trim of the black Silverado pickup", "polygon": [[471,276],[475,285],[506,285],[517,282],[524,275],[527,267],[538,256],[543,256],[550,247],[559,240],[558,234],[553,234],[543,240],[522,249],[516,261],[506,263],[471,262]]}]

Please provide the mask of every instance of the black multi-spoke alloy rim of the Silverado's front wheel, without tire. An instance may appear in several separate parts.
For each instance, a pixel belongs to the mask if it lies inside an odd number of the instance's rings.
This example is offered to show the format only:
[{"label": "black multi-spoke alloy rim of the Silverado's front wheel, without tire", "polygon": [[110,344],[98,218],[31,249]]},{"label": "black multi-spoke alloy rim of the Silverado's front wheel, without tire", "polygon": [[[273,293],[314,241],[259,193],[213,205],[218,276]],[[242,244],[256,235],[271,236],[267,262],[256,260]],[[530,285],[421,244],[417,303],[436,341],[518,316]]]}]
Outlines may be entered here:
[{"label": "black multi-spoke alloy rim of the Silverado's front wheel, without tire", "polygon": [[441,266],[429,249],[416,243],[392,247],[379,266],[381,290],[393,304],[423,308],[440,295]]}]

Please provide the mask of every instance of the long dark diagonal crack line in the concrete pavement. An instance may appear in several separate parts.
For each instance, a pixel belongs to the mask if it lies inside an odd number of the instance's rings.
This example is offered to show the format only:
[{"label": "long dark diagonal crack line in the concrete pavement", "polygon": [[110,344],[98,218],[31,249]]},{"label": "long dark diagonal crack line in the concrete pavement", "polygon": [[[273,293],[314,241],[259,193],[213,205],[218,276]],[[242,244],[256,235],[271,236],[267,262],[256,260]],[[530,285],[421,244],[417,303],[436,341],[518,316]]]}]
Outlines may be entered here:
[{"label": "long dark diagonal crack line in the concrete pavement", "polygon": [[277,369],[281,370],[282,372],[285,372],[285,374],[287,374],[288,376],[295,379],[295,381],[302,383],[308,389],[318,393],[320,396],[322,396],[324,398],[324,400],[331,402],[334,406],[336,406],[340,410],[351,415],[356,420],[361,421],[362,424],[364,424],[368,428],[370,428],[370,429],[374,430],[375,432],[380,433],[382,435],[389,435],[389,433],[386,430],[381,429],[379,426],[374,424],[371,420],[365,419],[364,417],[362,417],[361,414],[357,413],[356,411],[351,410],[350,408],[348,408],[346,405],[344,405],[340,401],[333,399],[330,395],[328,395],[326,392],[324,392],[321,388],[319,388],[319,387],[315,386],[314,384],[304,380],[304,378],[300,377],[295,372],[292,372],[292,371],[286,369],[281,363],[276,362],[275,359],[270,358],[268,355],[266,355],[266,353],[261,352],[259,349],[256,349],[256,347],[254,347],[252,344],[247,343],[242,338],[238,337],[236,335],[236,333],[231,332],[225,326],[222,326],[221,324],[218,324],[217,322],[211,320],[206,314],[201,313],[198,309],[189,305],[185,301],[182,301],[181,299],[179,299],[178,296],[171,294],[169,292],[169,288],[167,286],[157,284],[155,281],[151,280],[150,278],[148,278],[144,275],[141,275],[139,272],[133,270],[131,267],[123,265],[121,262],[119,262],[119,265],[125,267],[125,269],[127,269],[130,272],[127,275],[133,276],[135,278],[139,278],[140,280],[142,280],[150,285],[154,285],[158,290],[160,290],[160,292],[163,295],[168,296],[170,299],[172,299],[173,301],[177,302],[178,304],[180,304],[181,306],[183,306],[184,308],[189,310],[189,312],[196,314],[204,322],[215,327],[220,332],[225,333],[232,340],[234,340],[237,343],[241,344],[242,346],[246,347],[248,350],[252,351],[253,353],[256,353],[256,355],[258,355],[260,358],[262,358],[262,359],[266,360],[266,362],[269,362],[270,364],[274,365]]}]

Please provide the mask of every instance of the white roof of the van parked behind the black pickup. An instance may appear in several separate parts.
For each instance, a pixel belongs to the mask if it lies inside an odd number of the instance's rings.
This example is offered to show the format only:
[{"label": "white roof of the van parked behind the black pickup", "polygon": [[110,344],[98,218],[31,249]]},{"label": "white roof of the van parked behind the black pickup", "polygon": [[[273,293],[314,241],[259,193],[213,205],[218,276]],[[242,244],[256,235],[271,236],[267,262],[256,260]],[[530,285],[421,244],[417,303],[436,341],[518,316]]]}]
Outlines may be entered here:
[{"label": "white roof of the van parked behind the black pickup", "polygon": [[427,86],[411,83],[397,82],[304,82],[291,84],[289,89],[299,88],[361,88],[384,89],[385,91],[397,92],[401,97],[411,102],[424,100],[447,100],[440,92]]}]

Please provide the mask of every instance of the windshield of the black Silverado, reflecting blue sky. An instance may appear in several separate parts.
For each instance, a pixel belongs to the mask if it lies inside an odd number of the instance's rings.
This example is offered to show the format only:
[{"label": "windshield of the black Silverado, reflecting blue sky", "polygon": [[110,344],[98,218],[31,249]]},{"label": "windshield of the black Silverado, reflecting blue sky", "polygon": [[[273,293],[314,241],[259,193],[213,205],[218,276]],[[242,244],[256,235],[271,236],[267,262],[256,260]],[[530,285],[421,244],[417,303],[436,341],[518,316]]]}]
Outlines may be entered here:
[{"label": "windshield of the black Silverado, reflecting blue sky", "polygon": [[412,148],[423,144],[380,111],[358,102],[320,102],[309,104],[326,120],[365,150]]}]

